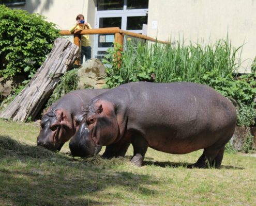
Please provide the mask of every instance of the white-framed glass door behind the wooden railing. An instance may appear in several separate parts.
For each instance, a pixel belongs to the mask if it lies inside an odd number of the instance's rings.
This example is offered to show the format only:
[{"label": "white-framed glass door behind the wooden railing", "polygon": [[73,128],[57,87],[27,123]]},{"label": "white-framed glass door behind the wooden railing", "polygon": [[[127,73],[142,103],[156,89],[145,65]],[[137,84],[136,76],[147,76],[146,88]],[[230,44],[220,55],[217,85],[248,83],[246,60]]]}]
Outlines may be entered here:
[{"label": "white-framed glass door behind the wooden railing", "polygon": [[[98,0],[95,28],[119,27],[142,33],[147,24],[148,0]],[[96,35],[94,57],[101,59],[106,50],[113,46],[114,34]]]}]

